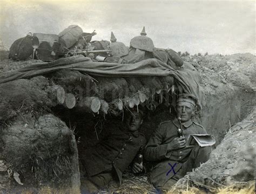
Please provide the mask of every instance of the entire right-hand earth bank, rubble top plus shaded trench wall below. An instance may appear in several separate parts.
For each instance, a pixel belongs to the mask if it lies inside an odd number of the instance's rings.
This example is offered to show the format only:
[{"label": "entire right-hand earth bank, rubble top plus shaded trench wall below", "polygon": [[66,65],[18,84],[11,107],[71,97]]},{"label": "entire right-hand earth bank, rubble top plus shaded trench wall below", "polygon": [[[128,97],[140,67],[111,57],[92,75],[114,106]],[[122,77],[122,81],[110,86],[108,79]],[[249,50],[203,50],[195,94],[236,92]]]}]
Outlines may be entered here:
[{"label": "entire right-hand earth bank, rubble top plus shaded trench wall below", "polygon": [[197,120],[215,136],[217,145],[256,105],[255,59],[249,53],[183,57],[199,71],[204,102]]}]

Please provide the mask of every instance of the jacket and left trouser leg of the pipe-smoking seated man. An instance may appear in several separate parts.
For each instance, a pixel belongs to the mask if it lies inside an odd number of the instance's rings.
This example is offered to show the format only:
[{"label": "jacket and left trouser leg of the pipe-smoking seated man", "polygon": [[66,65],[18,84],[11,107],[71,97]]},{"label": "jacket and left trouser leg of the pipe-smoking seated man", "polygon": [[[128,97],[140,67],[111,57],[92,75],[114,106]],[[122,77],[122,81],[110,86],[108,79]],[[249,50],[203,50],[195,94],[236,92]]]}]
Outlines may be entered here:
[{"label": "jacket and left trouser leg of the pipe-smoking seated man", "polygon": [[[182,127],[186,140],[190,134],[207,134],[201,125],[192,120],[184,123]],[[176,118],[161,123],[145,147],[145,159],[159,162],[151,173],[150,179],[153,185],[162,186],[166,183],[174,175],[173,171],[168,173],[171,166],[177,172],[191,153],[193,146],[170,150],[169,143],[178,136],[178,128],[180,124]]]}]

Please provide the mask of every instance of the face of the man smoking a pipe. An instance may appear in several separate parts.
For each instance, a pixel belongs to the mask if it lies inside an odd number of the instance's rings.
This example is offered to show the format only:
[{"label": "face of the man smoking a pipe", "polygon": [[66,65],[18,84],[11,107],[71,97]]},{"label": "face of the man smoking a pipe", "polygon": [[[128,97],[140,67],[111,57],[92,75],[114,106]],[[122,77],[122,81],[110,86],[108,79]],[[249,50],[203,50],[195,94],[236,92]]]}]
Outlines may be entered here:
[{"label": "face of the man smoking a pipe", "polygon": [[177,117],[181,118],[181,122],[185,123],[191,119],[194,114],[194,106],[188,102],[179,102],[176,106]]}]

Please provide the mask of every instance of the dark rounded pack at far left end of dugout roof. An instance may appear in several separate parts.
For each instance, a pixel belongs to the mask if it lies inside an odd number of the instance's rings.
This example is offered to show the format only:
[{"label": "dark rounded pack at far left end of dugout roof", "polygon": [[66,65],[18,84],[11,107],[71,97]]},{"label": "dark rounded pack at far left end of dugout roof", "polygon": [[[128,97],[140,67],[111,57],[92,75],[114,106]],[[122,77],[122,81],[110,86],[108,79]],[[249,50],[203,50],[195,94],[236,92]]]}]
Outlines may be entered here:
[{"label": "dark rounded pack at far left end of dugout roof", "polygon": [[26,37],[19,38],[12,43],[9,52],[9,58],[13,60],[26,60],[33,53],[32,33]]}]

